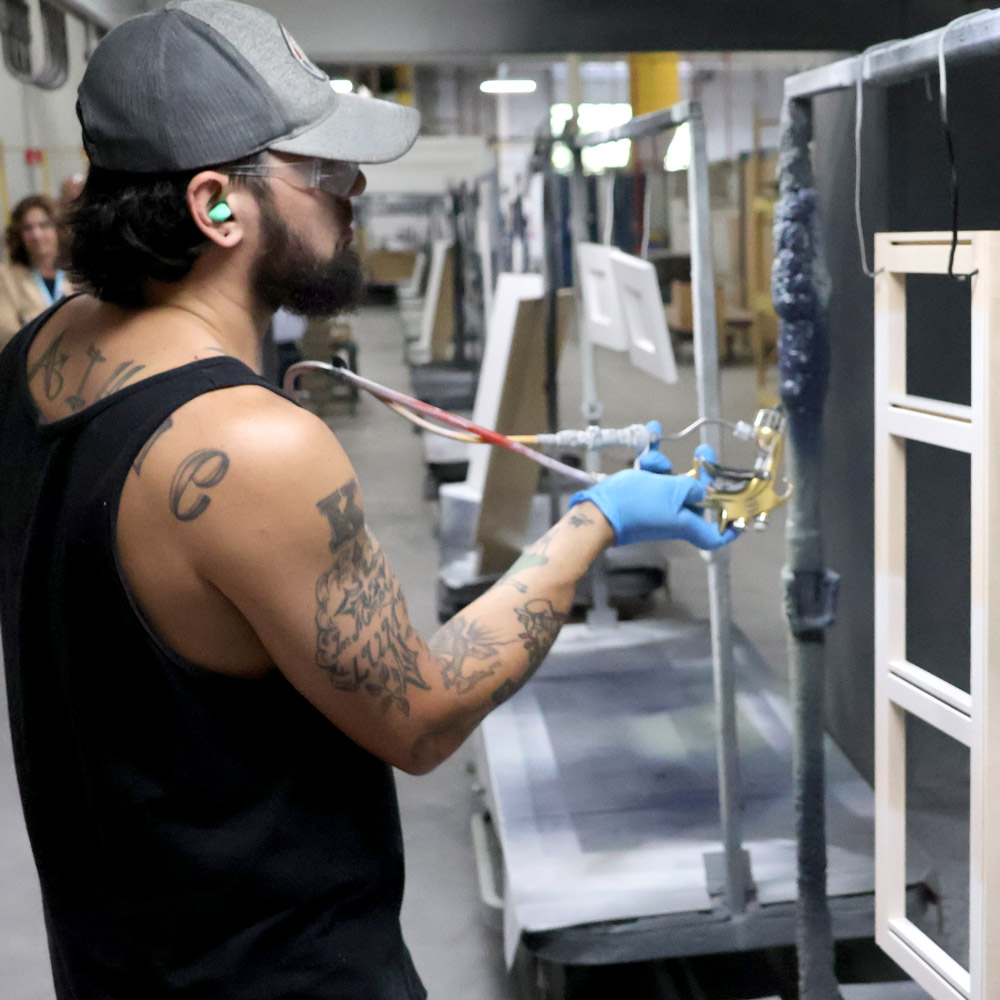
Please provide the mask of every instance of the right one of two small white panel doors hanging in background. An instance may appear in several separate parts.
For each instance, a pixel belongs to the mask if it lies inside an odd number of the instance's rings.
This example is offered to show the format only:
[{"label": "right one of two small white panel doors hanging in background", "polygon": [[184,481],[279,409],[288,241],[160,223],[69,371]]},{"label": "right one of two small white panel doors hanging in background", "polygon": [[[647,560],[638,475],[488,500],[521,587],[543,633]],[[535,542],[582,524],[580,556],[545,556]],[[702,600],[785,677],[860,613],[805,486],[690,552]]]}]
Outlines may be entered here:
[{"label": "right one of two small white panel doors hanging in background", "polygon": [[677,381],[677,364],[656,269],[648,260],[625,253],[612,259],[612,267],[632,364],[673,385]]}]

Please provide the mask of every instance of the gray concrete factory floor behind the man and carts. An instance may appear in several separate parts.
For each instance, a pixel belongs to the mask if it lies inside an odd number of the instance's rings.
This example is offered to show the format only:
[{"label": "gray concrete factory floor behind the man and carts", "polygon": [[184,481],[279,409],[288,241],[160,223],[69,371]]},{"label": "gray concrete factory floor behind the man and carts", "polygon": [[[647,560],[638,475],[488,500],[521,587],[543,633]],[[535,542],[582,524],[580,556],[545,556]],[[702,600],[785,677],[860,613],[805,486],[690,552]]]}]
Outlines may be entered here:
[{"label": "gray concrete factory floor behind the man and carts", "polygon": [[[391,307],[366,308],[353,324],[362,373],[405,390],[408,377],[399,313]],[[690,365],[682,364],[681,382],[674,387],[635,372],[623,358],[608,352],[600,352],[598,368],[607,396],[606,424],[656,417],[664,428],[677,428],[696,412]],[[575,346],[570,343],[560,380],[563,426],[582,425],[578,372]],[[726,368],[722,382],[727,415],[751,418],[757,406],[751,369]],[[414,622],[427,635],[437,627],[433,581],[438,549],[436,505],[422,499],[419,438],[400,418],[368,398],[354,412],[344,404],[331,407],[327,420],[356,466],[368,521],[400,577]],[[664,450],[675,467],[687,468],[693,444]],[[748,446],[734,443],[726,457],[742,463],[749,455],[740,452],[741,447]],[[768,531],[748,535],[732,549],[734,618],[780,672],[785,663],[779,579],[782,528],[779,514]],[[667,552],[670,597],[658,610],[679,618],[706,617],[706,575],[698,553],[679,543],[668,544]],[[0,728],[0,996],[52,1000],[41,908],[6,723]],[[512,1000],[499,930],[478,900],[469,837],[470,815],[478,799],[472,791],[470,758],[463,748],[428,776],[398,778],[407,851],[404,932],[432,1000]]]}]

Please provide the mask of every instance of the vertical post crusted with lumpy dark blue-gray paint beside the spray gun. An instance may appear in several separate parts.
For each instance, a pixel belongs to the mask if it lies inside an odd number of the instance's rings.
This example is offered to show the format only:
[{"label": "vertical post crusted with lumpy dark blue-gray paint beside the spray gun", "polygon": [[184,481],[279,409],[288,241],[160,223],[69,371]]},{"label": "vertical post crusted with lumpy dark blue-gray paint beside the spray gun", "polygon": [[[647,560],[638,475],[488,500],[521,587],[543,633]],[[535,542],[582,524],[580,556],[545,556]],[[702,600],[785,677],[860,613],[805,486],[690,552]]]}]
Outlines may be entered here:
[{"label": "vertical post crusted with lumpy dark blue-gray paint beside the spray gun", "polygon": [[779,317],[780,393],[796,483],[786,522],[782,575],[795,719],[799,993],[803,1000],[839,1000],[826,895],[823,750],[825,632],[833,624],[839,578],[823,564],[820,521],[823,401],[830,366],[830,279],[820,238],[809,156],[811,138],[811,102],[786,101],[771,294]]}]

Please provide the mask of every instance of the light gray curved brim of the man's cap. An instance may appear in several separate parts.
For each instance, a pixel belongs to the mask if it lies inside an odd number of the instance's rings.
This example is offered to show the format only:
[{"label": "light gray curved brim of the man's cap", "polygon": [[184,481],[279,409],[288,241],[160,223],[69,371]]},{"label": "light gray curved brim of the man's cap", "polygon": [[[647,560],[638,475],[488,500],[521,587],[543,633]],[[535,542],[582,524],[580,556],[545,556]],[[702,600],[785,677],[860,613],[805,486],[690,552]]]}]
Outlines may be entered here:
[{"label": "light gray curved brim of the man's cap", "polygon": [[402,156],[416,141],[420,112],[360,94],[330,94],[326,118],[270,149],[324,160],[387,163]]}]

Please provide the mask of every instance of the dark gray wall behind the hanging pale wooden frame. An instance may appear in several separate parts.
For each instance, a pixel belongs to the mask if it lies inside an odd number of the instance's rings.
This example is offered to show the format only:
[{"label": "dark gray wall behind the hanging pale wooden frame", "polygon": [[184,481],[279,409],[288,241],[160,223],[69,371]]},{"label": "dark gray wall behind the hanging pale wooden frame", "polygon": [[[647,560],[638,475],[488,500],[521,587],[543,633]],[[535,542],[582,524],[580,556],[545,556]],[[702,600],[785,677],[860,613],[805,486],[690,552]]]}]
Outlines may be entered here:
[{"label": "dark gray wall behind the hanging pale wooden frame", "polygon": [[[1000,229],[1000,86],[995,60],[949,72],[963,229]],[[930,99],[929,99],[930,98]],[[829,634],[828,720],[862,773],[873,774],[873,283],[861,269],[854,225],[854,93],[817,98],[815,153],[831,303],[832,377],[826,408],[827,562],[842,575]],[[934,79],[879,91],[864,108],[862,208],[877,230],[950,229],[948,160]],[[969,403],[969,285],[907,279],[908,391]],[[969,462],[924,445],[907,452],[907,657],[969,684]],[[902,512],[901,512],[902,513]],[[919,727],[916,727],[919,728]],[[948,741],[950,743],[950,741]],[[914,733],[910,760],[956,766],[968,754]]]}]

